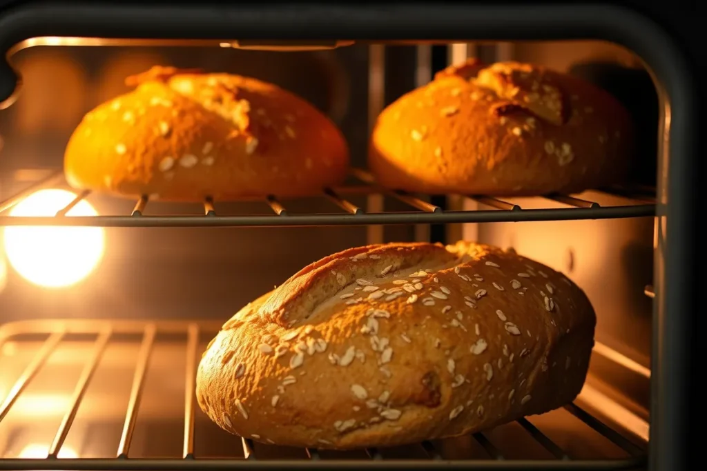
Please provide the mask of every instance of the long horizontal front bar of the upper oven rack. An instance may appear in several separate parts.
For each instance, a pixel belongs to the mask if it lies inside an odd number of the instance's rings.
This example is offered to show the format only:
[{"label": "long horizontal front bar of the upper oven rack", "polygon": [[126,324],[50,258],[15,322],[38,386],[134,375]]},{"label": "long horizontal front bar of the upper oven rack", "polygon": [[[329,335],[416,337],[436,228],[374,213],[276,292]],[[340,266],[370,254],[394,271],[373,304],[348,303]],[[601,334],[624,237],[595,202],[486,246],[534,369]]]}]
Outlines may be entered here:
[{"label": "long horizontal front bar of the upper oven rack", "polygon": [[[426,203],[429,204],[429,203]],[[134,215],[141,215],[141,213]],[[605,206],[602,208],[525,209],[516,211],[479,210],[429,213],[364,213],[279,216],[0,216],[0,226],[86,226],[86,227],[306,227],[339,225],[455,224],[462,222],[537,222],[653,217],[655,205]]]}]

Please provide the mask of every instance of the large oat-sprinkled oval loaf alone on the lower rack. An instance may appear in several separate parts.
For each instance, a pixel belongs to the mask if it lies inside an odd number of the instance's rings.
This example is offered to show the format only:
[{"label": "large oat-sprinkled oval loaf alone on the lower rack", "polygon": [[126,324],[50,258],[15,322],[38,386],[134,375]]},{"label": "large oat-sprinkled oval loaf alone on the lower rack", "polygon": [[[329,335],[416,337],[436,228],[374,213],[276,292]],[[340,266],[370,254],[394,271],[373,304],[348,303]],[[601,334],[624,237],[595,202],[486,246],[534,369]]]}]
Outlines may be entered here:
[{"label": "large oat-sprinkled oval loaf alone on the lower rack", "polygon": [[233,434],[359,448],[457,436],[580,392],[595,313],[573,282],[492,246],[349,249],[230,318],[197,400]]}]

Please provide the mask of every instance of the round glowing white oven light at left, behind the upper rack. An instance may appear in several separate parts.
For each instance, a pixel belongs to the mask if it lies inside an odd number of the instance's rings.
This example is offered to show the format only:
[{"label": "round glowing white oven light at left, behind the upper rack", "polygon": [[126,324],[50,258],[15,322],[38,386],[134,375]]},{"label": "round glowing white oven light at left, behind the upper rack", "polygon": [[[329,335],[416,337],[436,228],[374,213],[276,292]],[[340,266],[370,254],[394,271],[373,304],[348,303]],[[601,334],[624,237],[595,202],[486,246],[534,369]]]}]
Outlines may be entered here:
[{"label": "round glowing white oven light at left, behind the upper rack", "polygon": [[[11,216],[52,216],[76,195],[59,189],[40,190],[12,208]],[[66,216],[93,216],[81,200]],[[98,266],[105,249],[102,227],[6,227],[5,251],[10,266],[25,280],[42,287],[67,287]]]}]

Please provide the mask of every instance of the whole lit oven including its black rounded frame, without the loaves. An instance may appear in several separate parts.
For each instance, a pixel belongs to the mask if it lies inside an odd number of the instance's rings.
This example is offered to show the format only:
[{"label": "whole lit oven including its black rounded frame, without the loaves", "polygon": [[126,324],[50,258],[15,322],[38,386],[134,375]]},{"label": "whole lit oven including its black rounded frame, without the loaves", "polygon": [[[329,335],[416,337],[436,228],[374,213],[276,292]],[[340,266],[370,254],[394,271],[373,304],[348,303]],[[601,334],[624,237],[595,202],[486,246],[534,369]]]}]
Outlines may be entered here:
[{"label": "whole lit oven including its black rounded frame, without the loaves", "polygon": [[[342,39],[343,38],[343,39]],[[684,469],[695,97],[658,23],[608,5],[37,3],[0,11],[0,469]],[[636,124],[630,182],[532,198],[383,189],[375,118],[469,57],[582,76]],[[10,65],[11,64],[11,65]],[[69,188],[86,112],[155,64],[305,97],[351,149],[319,197],[163,203]],[[18,210],[19,209],[19,210]],[[194,397],[207,342],[301,267],[380,242],[512,247],[597,312],[573,403],[453,439],[325,451],[256,443]]]}]

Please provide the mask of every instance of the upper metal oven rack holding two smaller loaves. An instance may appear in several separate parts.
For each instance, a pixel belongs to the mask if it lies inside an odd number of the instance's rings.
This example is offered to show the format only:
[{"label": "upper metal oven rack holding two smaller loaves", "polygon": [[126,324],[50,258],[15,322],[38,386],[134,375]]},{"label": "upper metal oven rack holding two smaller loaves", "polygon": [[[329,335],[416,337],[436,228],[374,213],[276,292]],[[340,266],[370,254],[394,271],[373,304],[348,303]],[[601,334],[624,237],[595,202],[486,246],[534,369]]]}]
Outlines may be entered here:
[{"label": "upper metal oven rack holding two smaller loaves", "polygon": [[[460,195],[491,209],[443,210],[425,201],[425,196],[416,196],[399,190],[383,189],[376,184],[373,176],[363,169],[352,169],[351,176],[357,185],[341,188],[326,188],[320,198],[327,198],[332,209],[339,213],[289,213],[286,205],[276,194],[264,198],[271,210],[269,215],[222,215],[216,210],[216,201],[205,198],[202,202],[203,215],[145,215],[150,202],[148,196],[139,198],[129,215],[71,216],[66,213],[90,195],[90,191],[79,191],[74,201],[59,210],[54,216],[10,216],[6,212],[33,191],[49,186],[65,186],[62,172],[56,172],[46,179],[30,185],[14,196],[0,201],[1,226],[99,226],[99,227],[267,227],[267,226],[338,226],[338,225],[400,225],[400,224],[448,224],[462,222],[530,222],[550,220],[594,220],[621,217],[655,216],[655,189],[643,186],[612,186],[600,189],[606,195],[621,202],[619,205],[600,205],[596,201],[577,198],[566,194],[551,194],[534,198],[541,208],[525,209],[517,203],[486,195]],[[367,213],[364,208],[351,203],[345,196],[366,195],[387,196],[409,206],[408,211],[382,211]],[[542,204],[544,202],[544,205]],[[547,205],[563,205],[548,208]]]}]

